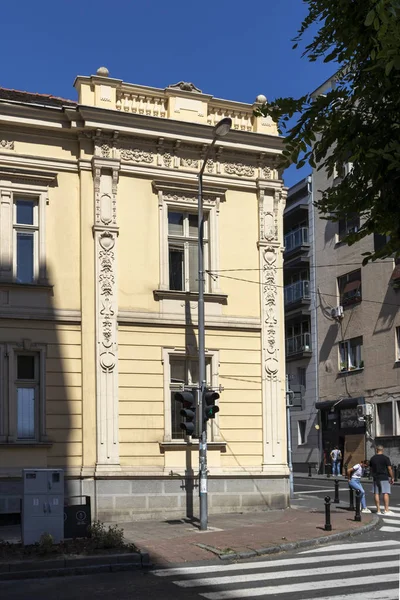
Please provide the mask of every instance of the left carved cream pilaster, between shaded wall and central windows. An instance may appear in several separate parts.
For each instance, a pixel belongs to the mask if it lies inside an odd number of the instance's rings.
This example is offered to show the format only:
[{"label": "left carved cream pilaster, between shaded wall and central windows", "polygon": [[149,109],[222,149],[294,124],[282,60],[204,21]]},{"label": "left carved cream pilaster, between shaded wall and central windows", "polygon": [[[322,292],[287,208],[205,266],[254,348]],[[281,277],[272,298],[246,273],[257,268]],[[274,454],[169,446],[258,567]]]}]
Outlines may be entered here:
[{"label": "left carved cream pilaster, between shaded wall and central windows", "polygon": [[115,470],[118,444],[117,187],[119,162],[93,159],[96,263],[97,469]]}]

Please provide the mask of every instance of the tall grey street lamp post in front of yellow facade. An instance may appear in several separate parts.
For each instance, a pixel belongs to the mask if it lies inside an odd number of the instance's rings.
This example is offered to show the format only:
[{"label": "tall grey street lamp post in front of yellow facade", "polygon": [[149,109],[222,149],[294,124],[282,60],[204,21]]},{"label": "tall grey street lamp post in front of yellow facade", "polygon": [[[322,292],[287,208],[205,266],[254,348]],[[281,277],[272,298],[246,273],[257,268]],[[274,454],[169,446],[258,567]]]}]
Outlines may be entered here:
[{"label": "tall grey street lamp post in front of yellow facade", "polygon": [[199,263],[199,300],[198,300],[198,348],[199,348],[199,387],[198,387],[198,423],[199,423],[199,496],[200,529],[205,531],[208,524],[207,503],[207,422],[204,422],[203,398],[206,388],[206,356],[204,326],[204,214],[203,214],[203,174],[210,151],[218,138],[224,137],[232,127],[232,119],[226,117],[217,123],[213,130],[213,139],[204,156],[198,178],[198,263]]}]

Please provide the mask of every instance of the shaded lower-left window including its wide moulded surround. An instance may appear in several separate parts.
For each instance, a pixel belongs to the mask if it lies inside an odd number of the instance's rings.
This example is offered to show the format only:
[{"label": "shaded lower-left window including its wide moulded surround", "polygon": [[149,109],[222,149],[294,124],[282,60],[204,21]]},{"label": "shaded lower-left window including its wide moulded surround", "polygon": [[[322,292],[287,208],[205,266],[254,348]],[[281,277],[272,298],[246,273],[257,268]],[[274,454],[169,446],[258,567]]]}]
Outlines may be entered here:
[{"label": "shaded lower-left window including its wide moulded surround", "polygon": [[45,348],[35,344],[0,345],[0,441],[47,441],[45,423]]}]

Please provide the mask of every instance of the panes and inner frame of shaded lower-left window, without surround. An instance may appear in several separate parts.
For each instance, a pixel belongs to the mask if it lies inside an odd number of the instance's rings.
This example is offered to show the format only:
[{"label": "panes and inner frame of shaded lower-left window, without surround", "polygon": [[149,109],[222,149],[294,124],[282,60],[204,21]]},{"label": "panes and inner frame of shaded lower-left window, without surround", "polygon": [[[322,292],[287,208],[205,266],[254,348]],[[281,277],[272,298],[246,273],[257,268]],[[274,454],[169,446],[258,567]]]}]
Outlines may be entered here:
[{"label": "panes and inner frame of shaded lower-left window, without surround", "polygon": [[17,439],[37,437],[39,405],[39,357],[36,354],[16,355]]}]

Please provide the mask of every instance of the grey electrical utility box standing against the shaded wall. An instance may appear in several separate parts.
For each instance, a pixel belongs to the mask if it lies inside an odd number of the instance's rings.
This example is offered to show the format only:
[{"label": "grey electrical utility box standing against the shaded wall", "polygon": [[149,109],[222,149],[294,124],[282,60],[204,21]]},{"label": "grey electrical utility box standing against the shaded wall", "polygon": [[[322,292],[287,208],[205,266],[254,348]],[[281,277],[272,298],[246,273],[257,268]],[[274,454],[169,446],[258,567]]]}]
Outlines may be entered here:
[{"label": "grey electrical utility box standing against the shaded wall", "polygon": [[64,472],[23,469],[22,543],[39,542],[49,533],[54,543],[64,538]]}]

